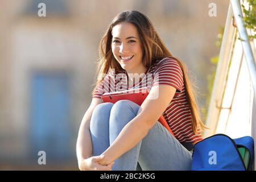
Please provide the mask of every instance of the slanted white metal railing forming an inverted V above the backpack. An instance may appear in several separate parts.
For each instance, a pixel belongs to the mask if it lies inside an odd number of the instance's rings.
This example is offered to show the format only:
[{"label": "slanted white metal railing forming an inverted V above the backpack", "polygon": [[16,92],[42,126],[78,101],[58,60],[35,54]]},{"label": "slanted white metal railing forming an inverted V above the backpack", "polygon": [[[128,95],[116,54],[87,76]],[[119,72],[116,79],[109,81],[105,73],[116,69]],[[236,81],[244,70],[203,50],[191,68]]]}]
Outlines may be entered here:
[{"label": "slanted white metal railing forming an inverted V above the backpack", "polygon": [[[233,16],[236,20],[236,27],[233,26]],[[207,121],[206,125],[211,130],[205,130],[204,137],[209,137],[216,133],[216,129],[218,126],[218,120],[220,119],[220,114],[223,107],[223,99],[224,93],[227,85],[227,75],[229,72],[229,64],[233,59],[233,51],[234,44],[237,41],[235,38],[236,32],[238,31],[240,38],[243,40],[241,42],[241,51],[243,51],[243,55],[245,56],[246,67],[249,70],[251,85],[254,90],[254,98],[256,98],[256,67],[255,60],[253,57],[253,52],[251,50],[250,42],[247,36],[246,28],[243,27],[243,19],[242,19],[242,10],[241,3],[239,0],[230,0],[230,6],[228,10],[228,16],[226,18],[225,30],[222,39],[220,55],[218,57],[218,65],[216,70],[216,77],[214,79],[212,95],[210,98],[210,104],[208,109]],[[224,104],[225,105],[225,104]],[[231,107],[230,107],[231,108]],[[218,126],[219,127],[219,126]]]}]

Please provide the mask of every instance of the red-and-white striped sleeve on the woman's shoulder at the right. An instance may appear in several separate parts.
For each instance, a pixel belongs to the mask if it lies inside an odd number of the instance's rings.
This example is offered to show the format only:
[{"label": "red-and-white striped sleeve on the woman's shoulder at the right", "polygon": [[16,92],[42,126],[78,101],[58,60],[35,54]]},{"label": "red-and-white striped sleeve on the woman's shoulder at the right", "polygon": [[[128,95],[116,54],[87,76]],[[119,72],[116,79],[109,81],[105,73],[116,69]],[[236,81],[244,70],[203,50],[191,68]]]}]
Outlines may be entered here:
[{"label": "red-and-white striped sleeve on the woman's shoulder at the right", "polygon": [[164,59],[160,61],[154,73],[152,86],[161,84],[174,86],[177,89],[176,92],[181,93],[184,84],[183,72],[176,60]]}]

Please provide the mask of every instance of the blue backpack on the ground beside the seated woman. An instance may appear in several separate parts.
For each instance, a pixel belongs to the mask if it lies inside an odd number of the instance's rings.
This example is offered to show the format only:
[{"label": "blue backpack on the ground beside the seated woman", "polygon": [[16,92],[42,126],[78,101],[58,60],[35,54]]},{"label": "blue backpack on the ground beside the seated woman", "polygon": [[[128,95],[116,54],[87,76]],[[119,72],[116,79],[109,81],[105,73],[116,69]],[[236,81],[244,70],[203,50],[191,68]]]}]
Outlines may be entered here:
[{"label": "blue backpack on the ground beside the seated woman", "polygon": [[191,170],[251,171],[253,162],[253,138],[232,139],[225,134],[216,134],[195,144]]}]

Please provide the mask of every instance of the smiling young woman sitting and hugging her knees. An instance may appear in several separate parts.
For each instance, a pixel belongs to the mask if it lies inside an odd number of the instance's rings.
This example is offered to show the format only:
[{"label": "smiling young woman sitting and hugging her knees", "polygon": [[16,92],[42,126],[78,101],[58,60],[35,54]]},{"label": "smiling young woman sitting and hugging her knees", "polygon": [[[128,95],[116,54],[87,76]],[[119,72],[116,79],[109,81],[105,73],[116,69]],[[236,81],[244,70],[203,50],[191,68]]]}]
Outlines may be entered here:
[{"label": "smiling young woman sitting and hugging her knees", "polygon": [[[138,11],[118,14],[101,40],[100,57],[100,78],[77,139],[79,168],[191,169],[193,144],[206,127],[184,65],[151,21]],[[129,100],[102,103],[104,93],[145,86],[150,93],[141,106]],[[175,137],[158,122],[162,114]]]}]

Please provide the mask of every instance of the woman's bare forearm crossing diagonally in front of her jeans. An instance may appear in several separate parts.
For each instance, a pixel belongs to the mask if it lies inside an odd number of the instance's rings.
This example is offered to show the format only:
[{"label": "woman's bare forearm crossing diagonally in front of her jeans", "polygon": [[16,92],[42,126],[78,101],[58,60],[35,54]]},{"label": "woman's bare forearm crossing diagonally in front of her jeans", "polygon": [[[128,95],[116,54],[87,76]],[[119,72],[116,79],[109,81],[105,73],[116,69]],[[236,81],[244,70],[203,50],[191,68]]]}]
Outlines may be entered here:
[{"label": "woman's bare forearm crossing diagonally in front of her jeans", "polygon": [[137,116],[123,127],[112,145],[102,153],[104,158],[100,160],[100,164],[106,165],[113,162],[146,137],[148,131],[170,104],[175,92],[176,88],[170,85],[153,86]]}]

